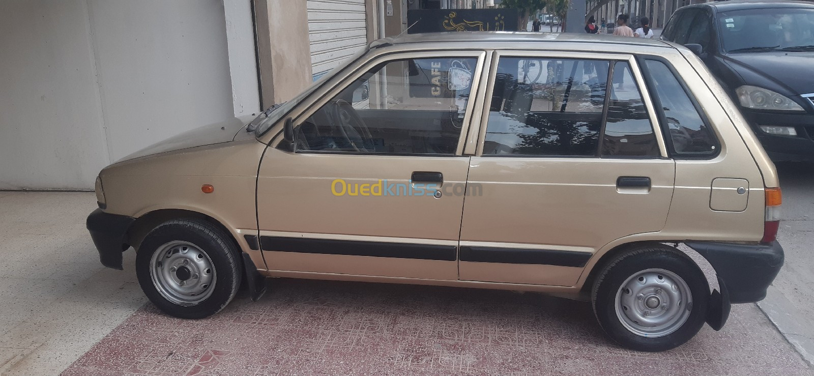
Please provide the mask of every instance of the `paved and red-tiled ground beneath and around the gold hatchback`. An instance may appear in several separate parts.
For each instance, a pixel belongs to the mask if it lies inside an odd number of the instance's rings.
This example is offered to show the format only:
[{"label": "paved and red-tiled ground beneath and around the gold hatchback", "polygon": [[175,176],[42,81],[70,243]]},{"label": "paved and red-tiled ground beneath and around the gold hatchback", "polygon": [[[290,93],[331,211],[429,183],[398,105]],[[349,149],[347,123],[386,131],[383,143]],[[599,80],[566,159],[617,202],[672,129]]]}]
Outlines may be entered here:
[{"label": "paved and red-tiled ground beneath and around the gold hatchback", "polygon": [[132,268],[98,264],[92,193],[0,192],[0,374],[810,374],[784,335],[814,342],[814,168],[779,168],[772,321],[736,305],[721,332],[659,354],[609,343],[589,304],[508,291],[274,280],[258,303],[177,320],[144,304]]}]

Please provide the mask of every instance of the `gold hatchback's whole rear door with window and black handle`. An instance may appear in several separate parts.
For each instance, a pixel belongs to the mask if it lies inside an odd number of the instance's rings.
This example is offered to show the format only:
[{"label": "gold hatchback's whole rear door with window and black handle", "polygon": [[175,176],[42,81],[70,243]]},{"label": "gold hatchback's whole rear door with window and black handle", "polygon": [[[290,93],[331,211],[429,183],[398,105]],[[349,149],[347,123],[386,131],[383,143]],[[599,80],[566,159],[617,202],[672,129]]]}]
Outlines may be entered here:
[{"label": "gold hatchback's whole rear door with window and black handle", "polygon": [[460,278],[571,286],[599,248],[663,228],[674,163],[631,55],[495,59],[467,181]]}]

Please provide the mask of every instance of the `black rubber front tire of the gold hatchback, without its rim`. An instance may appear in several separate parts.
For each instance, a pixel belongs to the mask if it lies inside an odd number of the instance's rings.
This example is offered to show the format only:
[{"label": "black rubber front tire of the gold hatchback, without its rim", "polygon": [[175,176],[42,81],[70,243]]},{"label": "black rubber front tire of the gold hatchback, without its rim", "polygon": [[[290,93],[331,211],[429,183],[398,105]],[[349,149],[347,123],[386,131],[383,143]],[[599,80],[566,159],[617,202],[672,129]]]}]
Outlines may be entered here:
[{"label": "black rubber front tire of the gold hatchback, without its rim", "polygon": [[[164,244],[171,242],[194,244],[208,256],[214,268],[211,295],[195,305],[174,303],[159,292],[151,276],[151,258]],[[136,254],[138,284],[147,298],[170,316],[180,318],[204,318],[223,309],[234,298],[243,275],[239,250],[228,234],[216,226],[195,219],[166,221],[144,238]]]}]

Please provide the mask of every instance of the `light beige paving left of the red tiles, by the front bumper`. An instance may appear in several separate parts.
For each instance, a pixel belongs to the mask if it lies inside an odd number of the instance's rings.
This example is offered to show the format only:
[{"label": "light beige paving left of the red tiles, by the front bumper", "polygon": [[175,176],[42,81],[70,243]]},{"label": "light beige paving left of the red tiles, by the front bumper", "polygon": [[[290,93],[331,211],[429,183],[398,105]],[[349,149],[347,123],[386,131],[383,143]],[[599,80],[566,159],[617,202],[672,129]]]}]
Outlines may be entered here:
[{"label": "light beige paving left of the red tiles, by the front bumper", "polygon": [[0,374],[59,374],[147,300],[132,269],[99,264],[85,230],[95,205],[93,193],[0,191]]}]

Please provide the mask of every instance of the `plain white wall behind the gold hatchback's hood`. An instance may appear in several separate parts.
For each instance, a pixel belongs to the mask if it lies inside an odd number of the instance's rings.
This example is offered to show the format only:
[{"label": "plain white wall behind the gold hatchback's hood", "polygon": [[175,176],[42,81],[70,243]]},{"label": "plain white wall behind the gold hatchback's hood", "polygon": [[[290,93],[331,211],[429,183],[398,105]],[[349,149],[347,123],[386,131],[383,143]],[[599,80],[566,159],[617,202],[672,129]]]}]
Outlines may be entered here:
[{"label": "plain white wall behind the gold hatchback's hood", "polygon": [[[234,22],[248,4],[226,0]],[[227,42],[227,20],[220,0],[0,2],[0,189],[90,189],[133,151],[257,111],[252,28]]]}]

